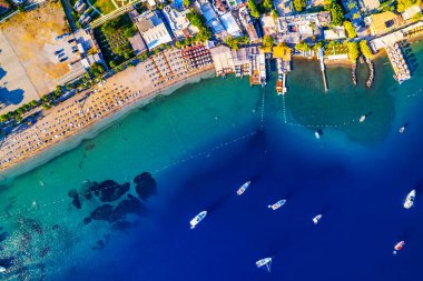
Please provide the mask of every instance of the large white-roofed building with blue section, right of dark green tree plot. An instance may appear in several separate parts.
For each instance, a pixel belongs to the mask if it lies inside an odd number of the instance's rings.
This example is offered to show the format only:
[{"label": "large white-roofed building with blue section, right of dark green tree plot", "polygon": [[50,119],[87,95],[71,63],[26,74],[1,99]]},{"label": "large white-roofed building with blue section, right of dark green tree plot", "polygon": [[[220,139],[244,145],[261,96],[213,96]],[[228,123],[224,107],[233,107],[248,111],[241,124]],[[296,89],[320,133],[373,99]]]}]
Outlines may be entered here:
[{"label": "large white-roofed building with blue section, right of dark green tree plot", "polygon": [[149,51],[171,42],[173,37],[161,19],[160,11],[147,11],[135,18],[134,21]]}]

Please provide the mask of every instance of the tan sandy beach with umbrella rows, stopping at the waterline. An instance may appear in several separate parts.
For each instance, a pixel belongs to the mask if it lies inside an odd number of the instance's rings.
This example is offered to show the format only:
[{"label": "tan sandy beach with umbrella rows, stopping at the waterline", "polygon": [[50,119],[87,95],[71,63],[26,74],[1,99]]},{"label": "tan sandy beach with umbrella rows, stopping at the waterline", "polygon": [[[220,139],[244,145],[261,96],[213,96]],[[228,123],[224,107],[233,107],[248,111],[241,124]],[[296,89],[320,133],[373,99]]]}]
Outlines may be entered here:
[{"label": "tan sandy beach with umbrella rows, stopping at the waterline", "polygon": [[105,84],[81,92],[61,104],[43,111],[32,124],[22,124],[2,140],[0,147],[0,171],[28,160],[71,136],[89,128],[137,101],[148,101],[166,90],[176,89],[204,72],[214,69],[212,63],[184,76],[151,83],[147,73],[149,61],[117,73]]}]

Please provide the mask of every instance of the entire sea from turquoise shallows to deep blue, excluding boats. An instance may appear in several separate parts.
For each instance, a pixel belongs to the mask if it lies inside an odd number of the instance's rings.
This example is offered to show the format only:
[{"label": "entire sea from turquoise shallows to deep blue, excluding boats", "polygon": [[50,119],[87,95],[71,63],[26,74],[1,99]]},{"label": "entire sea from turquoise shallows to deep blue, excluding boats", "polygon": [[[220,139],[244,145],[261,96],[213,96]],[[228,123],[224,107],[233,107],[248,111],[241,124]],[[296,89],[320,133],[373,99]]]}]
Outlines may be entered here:
[{"label": "entire sea from turquoise shallows to deep blue, excluding boats", "polygon": [[[1,187],[4,279],[422,279],[423,46],[412,48],[419,67],[402,86],[382,58],[372,89],[364,67],[357,88],[350,69],[328,68],[325,93],[318,63],[298,61],[285,98],[274,91],[275,73],[264,90],[229,77],[134,110]],[[140,195],[134,180],[145,171],[157,187]],[[88,199],[87,184],[105,180],[131,184],[118,199]],[[415,207],[405,211],[413,188]],[[140,203],[120,208],[125,219],[92,213],[122,207],[128,194]],[[279,210],[267,209],[283,198]],[[189,230],[203,210],[208,215]],[[393,255],[400,240],[406,244]],[[255,267],[265,257],[274,257],[270,274]]]}]

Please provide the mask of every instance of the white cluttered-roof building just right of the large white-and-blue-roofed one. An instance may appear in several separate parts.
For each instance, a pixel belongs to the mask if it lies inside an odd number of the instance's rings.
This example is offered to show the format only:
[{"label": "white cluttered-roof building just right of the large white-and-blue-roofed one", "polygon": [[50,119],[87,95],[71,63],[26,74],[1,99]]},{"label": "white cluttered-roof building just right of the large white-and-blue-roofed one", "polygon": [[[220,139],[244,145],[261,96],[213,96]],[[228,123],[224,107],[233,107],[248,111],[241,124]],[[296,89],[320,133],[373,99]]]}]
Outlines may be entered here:
[{"label": "white cluttered-roof building just right of the large white-and-blue-roofed one", "polygon": [[190,24],[186,18],[188,12],[189,10],[179,11],[173,4],[168,4],[163,9],[164,17],[177,39],[191,37],[199,32],[198,28]]}]

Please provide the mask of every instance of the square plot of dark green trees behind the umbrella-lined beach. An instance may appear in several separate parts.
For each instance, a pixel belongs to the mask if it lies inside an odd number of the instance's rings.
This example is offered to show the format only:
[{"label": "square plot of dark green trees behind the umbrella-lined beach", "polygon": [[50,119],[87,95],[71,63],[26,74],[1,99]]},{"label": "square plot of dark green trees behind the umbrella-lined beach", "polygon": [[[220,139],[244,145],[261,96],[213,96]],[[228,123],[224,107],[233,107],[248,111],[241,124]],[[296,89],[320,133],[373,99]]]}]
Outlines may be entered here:
[{"label": "square plot of dark green trees behind the umbrella-lined beach", "polygon": [[107,21],[100,28],[96,28],[94,32],[109,67],[112,67],[111,61],[118,66],[134,57],[128,38],[132,37],[137,30],[128,14]]}]

